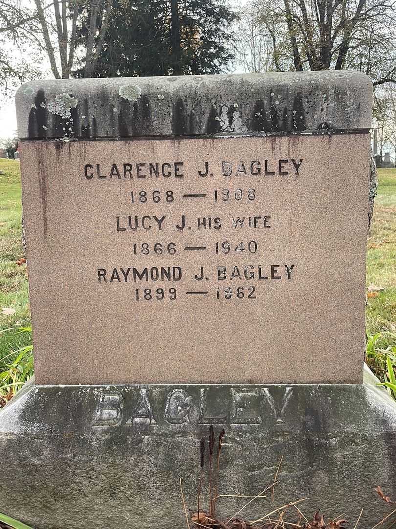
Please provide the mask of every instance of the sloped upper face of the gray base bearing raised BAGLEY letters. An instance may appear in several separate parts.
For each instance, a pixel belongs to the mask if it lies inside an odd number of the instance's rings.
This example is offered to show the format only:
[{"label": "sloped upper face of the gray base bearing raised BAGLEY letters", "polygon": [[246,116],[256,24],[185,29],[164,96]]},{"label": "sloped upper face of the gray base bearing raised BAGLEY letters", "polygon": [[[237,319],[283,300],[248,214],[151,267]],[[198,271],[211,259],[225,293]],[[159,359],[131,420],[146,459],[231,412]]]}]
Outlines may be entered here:
[{"label": "sloped upper face of the gray base bearing raised BAGLEY letters", "polygon": [[[365,369],[364,384],[128,384],[36,386],[31,380],[0,411],[0,435],[22,428],[26,434],[76,434],[122,430],[159,435],[171,428],[188,436],[210,424],[227,424],[236,430],[268,432],[329,429],[344,432],[396,427],[396,404],[378,379]],[[307,421],[307,403],[317,420]],[[350,420],[353,408],[354,421]],[[50,415],[49,415],[50,414]],[[308,414],[309,415],[309,414]],[[48,423],[48,418],[50,423]],[[55,424],[53,419],[56,418]],[[92,428],[94,428],[92,430]],[[178,429],[180,431],[178,431]]]}]

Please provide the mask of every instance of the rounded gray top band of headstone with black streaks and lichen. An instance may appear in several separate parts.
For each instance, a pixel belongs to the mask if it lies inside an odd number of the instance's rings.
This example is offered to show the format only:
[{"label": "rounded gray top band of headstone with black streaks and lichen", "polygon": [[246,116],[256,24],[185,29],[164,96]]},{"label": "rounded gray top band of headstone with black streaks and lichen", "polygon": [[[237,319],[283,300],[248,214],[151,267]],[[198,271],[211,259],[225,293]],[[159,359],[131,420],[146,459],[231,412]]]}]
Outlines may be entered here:
[{"label": "rounded gray top band of headstone with black streaks and lichen", "polygon": [[357,71],[38,80],[16,93],[20,138],[346,132],[371,127]]}]

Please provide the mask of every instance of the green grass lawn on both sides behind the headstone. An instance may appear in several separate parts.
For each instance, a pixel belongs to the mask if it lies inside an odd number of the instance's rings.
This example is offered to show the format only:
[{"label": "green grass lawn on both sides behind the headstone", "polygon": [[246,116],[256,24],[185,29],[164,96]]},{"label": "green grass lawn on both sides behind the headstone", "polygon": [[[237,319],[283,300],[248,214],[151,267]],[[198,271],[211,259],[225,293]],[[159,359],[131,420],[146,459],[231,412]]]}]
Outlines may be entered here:
[{"label": "green grass lawn on both sides behind the headstone", "polygon": [[[30,306],[26,265],[16,265],[23,257],[19,162],[0,158],[0,171],[4,172],[0,175],[0,313],[4,308],[15,311],[0,314],[2,330],[30,325]],[[378,345],[385,349],[396,345],[396,169],[378,172],[378,196],[367,241],[366,285],[384,290],[369,293],[366,326],[370,334],[381,332]],[[29,344],[30,333],[0,334],[0,374],[15,359],[14,351]]]}]

